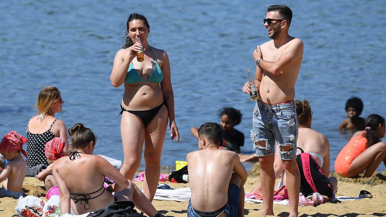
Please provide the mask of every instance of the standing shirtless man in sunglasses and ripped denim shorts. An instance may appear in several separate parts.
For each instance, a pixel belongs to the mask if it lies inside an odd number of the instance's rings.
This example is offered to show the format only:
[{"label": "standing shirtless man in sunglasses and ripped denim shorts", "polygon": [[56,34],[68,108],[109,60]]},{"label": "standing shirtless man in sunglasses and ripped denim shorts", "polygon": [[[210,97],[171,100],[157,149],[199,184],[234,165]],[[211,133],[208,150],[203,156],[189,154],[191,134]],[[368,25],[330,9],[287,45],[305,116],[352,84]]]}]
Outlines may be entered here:
[{"label": "standing shirtless man in sunglasses and ripped denim shorts", "polygon": [[[298,121],[293,99],[303,58],[303,42],[288,35],[291,19],[292,11],[289,7],[269,6],[264,26],[268,31],[268,37],[272,40],[257,46],[253,52],[256,62],[254,83],[259,92],[259,101],[256,102],[253,111],[251,139],[261,167],[264,198],[261,215],[274,215],[273,162],[276,140],[287,176],[289,216],[298,216],[300,190],[300,175],[296,165]],[[249,86],[249,82],[244,84],[244,93],[249,94]]]}]

